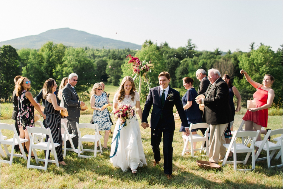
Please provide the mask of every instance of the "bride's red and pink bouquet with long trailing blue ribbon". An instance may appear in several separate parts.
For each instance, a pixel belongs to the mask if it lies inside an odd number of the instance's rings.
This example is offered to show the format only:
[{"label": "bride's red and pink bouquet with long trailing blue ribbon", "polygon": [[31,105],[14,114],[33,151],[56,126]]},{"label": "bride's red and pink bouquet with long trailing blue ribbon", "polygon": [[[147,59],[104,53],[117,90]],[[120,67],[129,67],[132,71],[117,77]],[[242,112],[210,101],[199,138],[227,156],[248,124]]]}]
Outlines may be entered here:
[{"label": "bride's red and pink bouquet with long trailing blue ribbon", "polygon": [[126,120],[127,119],[131,120],[135,116],[135,110],[133,109],[133,106],[120,105],[120,106],[118,106],[118,109],[114,112],[114,115],[115,115],[114,117],[116,119],[123,120],[123,123],[120,123],[119,128],[117,130],[117,134],[112,141],[112,143],[114,141],[116,141],[116,145],[115,145],[115,151],[114,151],[113,155],[110,156],[110,158],[112,158],[116,155],[117,150],[118,150],[119,140],[120,140],[120,137],[121,137],[120,131],[123,127],[125,127],[127,125]]}]

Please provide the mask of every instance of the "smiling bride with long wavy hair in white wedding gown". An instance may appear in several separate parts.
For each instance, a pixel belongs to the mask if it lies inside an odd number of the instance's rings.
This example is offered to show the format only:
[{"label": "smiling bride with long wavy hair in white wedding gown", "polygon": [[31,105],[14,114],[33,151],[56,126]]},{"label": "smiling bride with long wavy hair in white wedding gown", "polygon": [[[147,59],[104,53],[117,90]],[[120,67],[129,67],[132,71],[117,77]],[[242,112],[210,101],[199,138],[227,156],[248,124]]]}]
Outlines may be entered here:
[{"label": "smiling bride with long wavy hair in white wedding gown", "polygon": [[[136,107],[136,111],[139,114],[139,117],[142,118],[139,94],[136,92],[134,80],[130,76],[123,78],[118,92],[114,95],[114,112],[121,104]],[[136,115],[131,120],[127,119],[126,121],[127,125],[120,130],[121,137],[119,139],[119,145],[116,155],[110,158],[110,161],[115,167],[121,168],[123,172],[127,171],[127,169],[130,168],[132,170],[132,173],[137,173],[138,167],[147,165],[141,143],[141,131]],[[120,123],[122,124],[122,122],[118,119],[114,129],[113,139],[117,134]],[[116,142],[118,141],[114,141],[111,145],[111,155],[115,151]]]}]

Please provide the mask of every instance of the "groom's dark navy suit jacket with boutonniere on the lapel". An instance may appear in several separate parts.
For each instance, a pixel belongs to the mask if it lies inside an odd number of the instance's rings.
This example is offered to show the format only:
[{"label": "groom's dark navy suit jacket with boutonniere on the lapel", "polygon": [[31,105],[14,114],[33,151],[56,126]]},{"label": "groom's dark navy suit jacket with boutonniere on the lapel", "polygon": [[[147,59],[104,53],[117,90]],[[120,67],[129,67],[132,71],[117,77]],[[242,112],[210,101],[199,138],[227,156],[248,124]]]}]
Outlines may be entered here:
[{"label": "groom's dark navy suit jacket with boutonniere on the lapel", "polygon": [[[169,97],[169,94],[172,94],[173,96]],[[142,114],[141,122],[147,123],[147,117],[149,115],[149,111],[152,105],[153,105],[153,109],[150,118],[151,129],[155,129],[157,127],[158,121],[160,119],[160,115],[161,113],[163,113],[163,119],[165,124],[164,129],[168,129],[172,131],[175,130],[175,120],[173,116],[174,105],[178,110],[183,126],[189,127],[185,110],[183,108],[183,104],[180,98],[180,93],[175,89],[169,87],[168,95],[167,98],[165,99],[163,107],[161,105],[160,86],[150,89],[150,92],[147,96],[147,100],[144,104],[144,111]]]}]

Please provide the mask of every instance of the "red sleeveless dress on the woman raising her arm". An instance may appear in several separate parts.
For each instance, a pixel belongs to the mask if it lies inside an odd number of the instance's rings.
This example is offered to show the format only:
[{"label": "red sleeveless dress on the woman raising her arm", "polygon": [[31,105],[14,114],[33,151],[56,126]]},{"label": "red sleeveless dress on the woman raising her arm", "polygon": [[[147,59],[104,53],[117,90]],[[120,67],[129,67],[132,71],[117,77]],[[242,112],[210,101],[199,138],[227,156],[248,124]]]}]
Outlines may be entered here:
[{"label": "red sleeveless dress on the woman raising her arm", "polygon": [[[256,108],[263,106],[267,103],[268,91],[265,91],[261,88],[257,89],[254,93],[254,100],[256,101]],[[263,127],[267,127],[267,119],[268,119],[268,109],[263,109],[255,112],[251,112],[247,110],[243,120],[252,121],[258,125]]]}]

